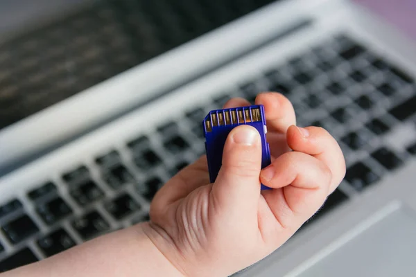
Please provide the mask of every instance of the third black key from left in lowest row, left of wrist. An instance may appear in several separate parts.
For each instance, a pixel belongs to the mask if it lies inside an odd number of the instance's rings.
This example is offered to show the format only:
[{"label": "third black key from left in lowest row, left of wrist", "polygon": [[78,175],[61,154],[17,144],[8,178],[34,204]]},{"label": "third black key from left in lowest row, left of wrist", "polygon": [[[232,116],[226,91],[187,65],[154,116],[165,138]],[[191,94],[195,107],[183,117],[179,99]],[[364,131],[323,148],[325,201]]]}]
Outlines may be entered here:
[{"label": "third black key from left in lowest row, left of wrist", "polygon": [[96,211],[74,220],[72,226],[83,240],[89,240],[110,230],[110,224]]}]

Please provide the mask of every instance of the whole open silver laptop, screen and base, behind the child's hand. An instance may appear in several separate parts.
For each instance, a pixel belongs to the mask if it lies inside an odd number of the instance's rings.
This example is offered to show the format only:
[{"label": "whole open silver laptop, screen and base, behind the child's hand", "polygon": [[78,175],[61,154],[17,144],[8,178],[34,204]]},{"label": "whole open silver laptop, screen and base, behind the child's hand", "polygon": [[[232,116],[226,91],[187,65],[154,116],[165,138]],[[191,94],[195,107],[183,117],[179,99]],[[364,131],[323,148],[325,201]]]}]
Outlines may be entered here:
[{"label": "whole open silver laptop, screen and base, behind the child's hand", "polygon": [[279,91],[347,174],[235,275],[414,275],[416,45],[399,30],[345,0],[27,5],[0,24],[0,271],[148,220],[204,154],[209,110]]}]

